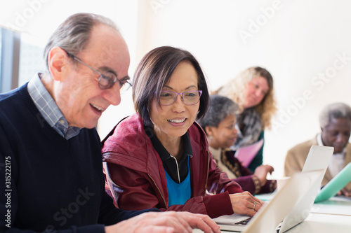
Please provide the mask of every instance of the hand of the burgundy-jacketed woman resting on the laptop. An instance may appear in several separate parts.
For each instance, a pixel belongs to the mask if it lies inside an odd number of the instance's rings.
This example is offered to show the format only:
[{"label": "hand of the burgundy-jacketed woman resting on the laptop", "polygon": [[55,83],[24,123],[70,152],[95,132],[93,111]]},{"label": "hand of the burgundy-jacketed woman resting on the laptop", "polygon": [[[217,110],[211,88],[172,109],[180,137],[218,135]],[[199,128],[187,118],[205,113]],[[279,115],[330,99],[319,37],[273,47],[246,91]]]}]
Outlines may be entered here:
[{"label": "hand of the burgundy-jacketed woman resting on the laptop", "polygon": [[246,216],[253,216],[265,203],[253,197],[250,192],[235,193],[229,196],[234,213],[244,214]]}]

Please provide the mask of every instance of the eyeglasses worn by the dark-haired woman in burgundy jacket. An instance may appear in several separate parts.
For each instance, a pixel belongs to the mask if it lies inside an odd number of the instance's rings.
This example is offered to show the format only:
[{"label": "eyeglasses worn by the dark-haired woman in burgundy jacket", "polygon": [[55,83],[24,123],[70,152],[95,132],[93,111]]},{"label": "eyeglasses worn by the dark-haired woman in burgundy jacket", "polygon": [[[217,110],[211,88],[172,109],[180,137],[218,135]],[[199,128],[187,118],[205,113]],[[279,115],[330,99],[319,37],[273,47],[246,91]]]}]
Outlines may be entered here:
[{"label": "eyeglasses worn by the dark-haired woman in burgundy jacket", "polygon": [[159,104],[167,106],[173,104],[178,94],[182,96],[183,103],[186,105],[194,105],[199,103],[202,91],[194,90],[183,93],[171,92],[171,91],[160,91],[159,92]]}]

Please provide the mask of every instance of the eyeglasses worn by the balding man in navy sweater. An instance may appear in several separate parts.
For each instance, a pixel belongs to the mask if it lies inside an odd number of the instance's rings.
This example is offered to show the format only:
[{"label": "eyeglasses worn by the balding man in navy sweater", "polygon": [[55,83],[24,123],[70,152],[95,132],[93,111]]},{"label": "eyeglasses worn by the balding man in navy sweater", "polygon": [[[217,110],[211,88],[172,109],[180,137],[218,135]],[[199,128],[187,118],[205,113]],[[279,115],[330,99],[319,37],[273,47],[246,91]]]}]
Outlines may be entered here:
[{"label": "eyeglasses worn by the balding man in navy sweater", "polygon": [[109,89],[117,81],[119,82],[119,93],[120,94],[123,94],[124,92],[129,90],[129,88],[131,87],[131,83],[128,82],[128,79],[130,79],[129,77],[118,79],[117,76],[114,75],[114,73],[110,73],[109,72],[109,73],[103,74],[103,73],[93,69],[93,67],[89,66],[88,64],[83,62],[81,59],[79,59],[78,57],[72,55],[71,53],[67,52],[66,50],[65,50],[65,52],[67,53],[67,55],[69,57],[72,57],[73,59],[77,60],[77,62],[80,62],[81,64],[84,64],[84,66],[88,67],[89,69],[91,69],[95,73],[98,73],[98,75],[100,76],[99,80],[98,80],[100,89],[102,89],[102,90]]}]

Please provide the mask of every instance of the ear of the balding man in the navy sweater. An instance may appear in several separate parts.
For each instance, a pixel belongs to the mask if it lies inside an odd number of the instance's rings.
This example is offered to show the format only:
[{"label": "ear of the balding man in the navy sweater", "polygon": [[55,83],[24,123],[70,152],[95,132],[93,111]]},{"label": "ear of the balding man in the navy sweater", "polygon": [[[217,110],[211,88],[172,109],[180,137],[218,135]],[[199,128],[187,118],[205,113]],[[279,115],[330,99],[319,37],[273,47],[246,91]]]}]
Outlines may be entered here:
[{"label": "ear of the balding man in the navy sweater", "polygon": [[68,59],[67,52],[60,47],[54,47],[48,52],[48,69],[54,80],[60,81],[65,77]]}]

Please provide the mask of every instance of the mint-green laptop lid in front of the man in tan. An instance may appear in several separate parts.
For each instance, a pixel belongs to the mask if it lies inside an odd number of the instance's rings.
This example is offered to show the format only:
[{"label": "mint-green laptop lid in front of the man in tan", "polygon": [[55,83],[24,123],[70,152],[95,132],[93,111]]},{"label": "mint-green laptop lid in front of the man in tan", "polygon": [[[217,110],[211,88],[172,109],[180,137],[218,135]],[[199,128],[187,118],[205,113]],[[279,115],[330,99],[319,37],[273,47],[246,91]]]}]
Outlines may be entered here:
[{"label": "mint-green laptop lid in front of the man in tan", "polygon": [[351,162],[346,165],[331,181],[319,192],[314,203],[325,201],[334,197],[342,188],[351,181]]}]

